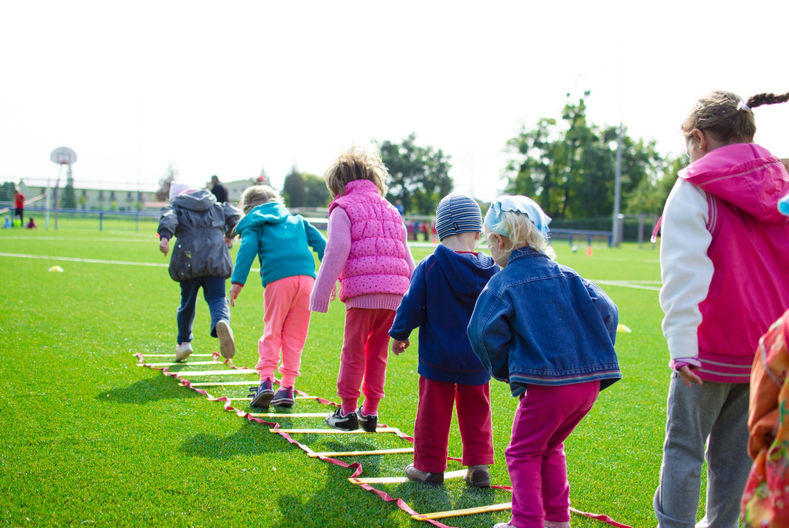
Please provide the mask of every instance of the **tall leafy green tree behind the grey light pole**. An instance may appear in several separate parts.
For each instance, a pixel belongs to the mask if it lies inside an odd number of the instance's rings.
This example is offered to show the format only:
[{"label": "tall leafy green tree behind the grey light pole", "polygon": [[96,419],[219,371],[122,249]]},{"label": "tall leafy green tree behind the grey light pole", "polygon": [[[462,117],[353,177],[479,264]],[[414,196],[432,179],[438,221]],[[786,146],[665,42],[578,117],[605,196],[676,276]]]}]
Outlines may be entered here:
[{"label": "tall leafy green tree behind the grey light pole", "polygon": [[[625,132],[623,210],[639,183],[655,180],[665,165],[653,141],[634,140]],[[584,98],[568,101],[561,122],[542,118],[533,129],[524,125],[507,141],[507,193],[533,197],[555,218],[611,215],[616,148],[616,127],[587,122]]]}]

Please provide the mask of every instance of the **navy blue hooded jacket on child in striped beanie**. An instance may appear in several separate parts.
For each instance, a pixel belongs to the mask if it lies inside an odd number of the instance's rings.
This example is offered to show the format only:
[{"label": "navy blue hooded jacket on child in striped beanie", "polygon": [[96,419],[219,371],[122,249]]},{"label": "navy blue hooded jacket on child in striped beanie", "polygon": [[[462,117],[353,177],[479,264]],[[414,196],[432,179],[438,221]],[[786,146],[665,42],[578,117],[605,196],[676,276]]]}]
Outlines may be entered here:
[{"label": "navy blue hooded jacket on child in striped beanie", "polygon": [[413,271],[389,335],[398,341],[419,327],[419,369],[428,380],[464,385],[490,381],[464,329],[474,304],[499,266],[484,253],[455,253],[443,245]]}]

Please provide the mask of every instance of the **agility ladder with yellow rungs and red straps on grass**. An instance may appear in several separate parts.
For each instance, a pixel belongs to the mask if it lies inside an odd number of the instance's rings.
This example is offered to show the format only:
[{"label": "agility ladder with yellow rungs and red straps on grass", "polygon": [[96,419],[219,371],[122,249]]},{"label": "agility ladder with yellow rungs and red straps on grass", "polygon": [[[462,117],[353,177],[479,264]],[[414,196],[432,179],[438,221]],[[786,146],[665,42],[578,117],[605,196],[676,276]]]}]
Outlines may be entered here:
[{"label": "agility ladder with yellow rungs and red straps on grass", "polygon": [[[380,489],[373,488],[371,484],[396,484],[407,482],[407,477],[376,477],[376,478],[360,478],[359,476],[362,473],[362,466],[361,462],[353,462],[353,464],[348,464],[346,462],[342,462],[342,460],[338,460],[337,457],[343,456],[362,456],[362,455],[389,455],[393,453],[413,453],[413,447],[402,447],[396,449],[378,449],[374,451],[312,451],[308,446],[301,444],[297,440],[294,440],[291,434],[296,433],[331,433],[331,434],[353,434],[353,433],[365,433],[361,429],[357,431],[340,431],[338,429],[281,429],[279,427],[279,423],[272,422],[272,421],[264,421],[262,418],[319,418],[326,416],[326,413],[291,413],[291,414],[278,414],[278,413],[250,413],[245,410],[238,410],[232,403],[234,401],[247,401],[249,402],[249,398],[228,398],[226,396],[222,396],[220,398],[215,398],[214,396],[208,394],[208,391],[204,389],[204,387],[220,387],[220,386],[228,386],[228,385],[253,385],[258,384],[257,380],[252,381],[220,381],[220,382],[201,382],[201,383],[193,383],[192,381],[185,379],[183,376],[219,376],[219,375],[226,375],[226,374],[251,374],[255,373],[255,370],[252,369],[245,369],[243,367],[237,367],[233,364],[233,361],[230,359],[226,359],[225,361],[219,361],[220,356],[218,352],[213,354],[192,354],[191,358],[211,358],[211,361],[192,361],[192,362],[185,362],[185,363],[147,363],[145,358],[171,358],[172,354],[141,354],[137,353],[134,354],[136,358],[139,359],[137,363],[138,366],[141,367],[149,367],[151,369],[161,370],[165,376],[174,377],[181,382],[181,385],[190,388],[193,391],[204,395],[208,398],[209,401],[212,402],[222,402],[224,409],[230,412],[237,414],[237,416],[241,418],[246,418],[249,421],[255,421],[257,423],[268,425],[271,427],[269,429],[270,433],[278,434],[282,436],[285,440],[290,442],[290,444],[297,445],[301,448],[302,451],[308,455],[308,457],[313,459],[320,459],[323,462],[329,462],[331,464],[335,464],[336,466],[347,467],[349,469],[353,469],[353,474],[350,476],[348,481],[350,481],[354,485],[358,485],[362,489],[367,490],[368,492],[373,492],[381,499],[386,500],[387,502],[394,502],[397,506],[402,510],[406,511],[409,515],[411,515],[412,519],[416,519],[417,521],[424,521],[429,522],[430,524],[437,526],[438,528],[452,528],[451,526],[447,526],[436,519],[446,519],[448,517],[460,517],[462,515],[473,515],[477,513],[489,513],[491,511],[502,511],[502,510],[509,510],[512,507],[512,503],[503,503],[503,504],[492,504],[489,506],[481,506],[481,507],[472,507],[466,508],[462,510],[452,510],[452,511],[436,511],[434,513],[426,513],[421,514],[414,511],[412,507],[406,504],[406,501],[402,499],[397,499],[390,496],[387,492],[383,492]],[[222,370],[193,370],[193,371],[180,371],[178,373],[171,373],[168,370],[168,367],[174,365],[227,365],[230,367],[228,369]],[[275,380],[279,383],[279,380]],[[305,393],[304,391],[299,391],[294,389],[295,393],[297,394],[295,397],[296,399],[314,399],[318,403],[323,403],[323,405],[330,405],[330,406],[339,406],[337,403],[334,403],[330,400],[320,398],[318,396],[311,396]],[[393,433],[396,434],[398,437],[406,440],[407,442],[413,444],[413,437],[406,435],[406,433],[402,433],[400,429],[388,427],[386,424],[380,424],[380,427],[376,429],[376,433]],[[461,459],[455,457],[447,457],[450,460],[456,460],[461,462]],[[444,478],[462,478],[463,475],[466,474],[466,470],[458,470],[458,471],[449,471],[444,474]],[[499,485],[492,485],[491,488],[495,489],[503,489],[505,491],[512,492],[512,488],[510,486],[499,486]],[[611,526],[616,526],[617,528],[630,528],[626,524],[622,524],[620,522],[616,522],[614,519],[608,517],[608,515],[600,515],[594,513],[588,513],[586,511],[576,510],[574,507],[570,507],[570,511],[578,515],[585,515],[591,519],[597,519],[599,521],[605,522],[610,524]]]}]

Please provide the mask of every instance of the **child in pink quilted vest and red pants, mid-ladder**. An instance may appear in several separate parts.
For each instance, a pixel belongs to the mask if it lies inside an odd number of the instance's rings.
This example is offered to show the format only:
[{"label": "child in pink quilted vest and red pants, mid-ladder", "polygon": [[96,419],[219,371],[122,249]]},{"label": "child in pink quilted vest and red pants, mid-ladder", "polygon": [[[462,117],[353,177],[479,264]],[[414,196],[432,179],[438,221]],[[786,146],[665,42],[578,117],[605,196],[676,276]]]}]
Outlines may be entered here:
[{"label": "child in pink quilted vest and red pants, mid-ladder", "polygon": [[[326,171],[329,205],[326,253],[309,309],[327,312],[340,281],[346,305],[337,394],[342,406],[326,417],[335,429],[375,433],[389,354],[389,329],[413,273],[406,227],[384,197],[387,170],[380,155],[351,148]],[[364,384],[362,383],[364,380]],[[357,409],[361,392],[363,405]]]}]

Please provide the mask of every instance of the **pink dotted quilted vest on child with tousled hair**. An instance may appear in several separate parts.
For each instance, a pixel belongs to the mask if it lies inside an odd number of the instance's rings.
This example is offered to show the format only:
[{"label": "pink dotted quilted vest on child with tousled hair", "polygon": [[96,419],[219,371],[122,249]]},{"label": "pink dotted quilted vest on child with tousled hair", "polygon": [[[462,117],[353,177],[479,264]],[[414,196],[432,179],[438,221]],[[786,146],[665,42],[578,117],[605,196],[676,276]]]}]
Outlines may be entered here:
[{"label": "pink dotted quilted vest on child with tousled hair", "polygon": [[340,274],[340,301],[368,294],[408,291],[406,228],[397,209],[382,198],[376,184],[356,180],[329,205],[329,215],[343,208],[350,219],[350,254]]}]

